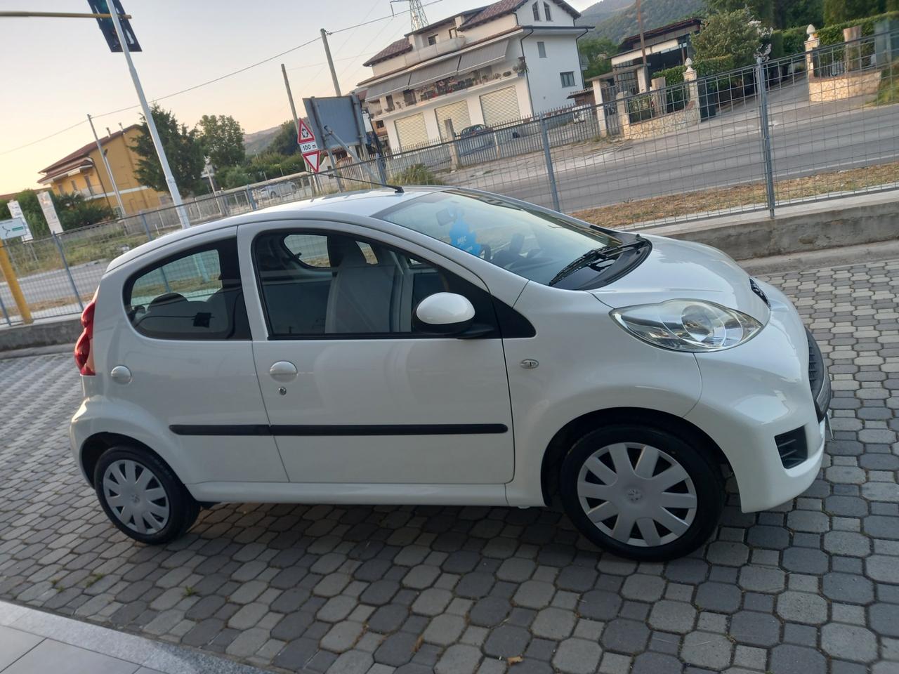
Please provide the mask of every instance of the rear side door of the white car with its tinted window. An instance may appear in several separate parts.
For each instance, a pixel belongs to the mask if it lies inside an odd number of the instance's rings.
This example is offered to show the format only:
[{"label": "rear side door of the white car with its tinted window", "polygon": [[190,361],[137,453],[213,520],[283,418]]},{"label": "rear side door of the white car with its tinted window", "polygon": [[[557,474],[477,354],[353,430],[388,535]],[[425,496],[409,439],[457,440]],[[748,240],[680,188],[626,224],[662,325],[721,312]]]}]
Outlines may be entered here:
[{"label": "rear side door of the white car with its tinted window", "polygon": [[[172,250],[176,249],[176,250]],[[121,270],[127,322],[103,359],[133,421],[163,424],[185,483],[286,482],[267,432],[237,262],[236,229],[165,246]],[[150,443],[152,445],[152,442]]]}]

